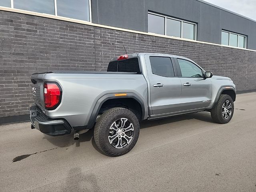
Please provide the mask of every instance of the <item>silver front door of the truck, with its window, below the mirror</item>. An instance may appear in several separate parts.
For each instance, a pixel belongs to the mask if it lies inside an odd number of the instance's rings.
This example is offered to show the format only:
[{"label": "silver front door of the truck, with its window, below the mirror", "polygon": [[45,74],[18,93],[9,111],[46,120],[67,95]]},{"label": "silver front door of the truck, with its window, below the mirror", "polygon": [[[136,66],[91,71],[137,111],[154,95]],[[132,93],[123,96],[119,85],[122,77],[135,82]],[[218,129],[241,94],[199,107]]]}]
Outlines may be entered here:
[{"label": "silver front door of the truck, with its window, below the mirror", "polygon": [[196,63],[174,58],[182,84],[180,110],[206,108],[212,100],[212,82],[204,78],[204,71]]}]

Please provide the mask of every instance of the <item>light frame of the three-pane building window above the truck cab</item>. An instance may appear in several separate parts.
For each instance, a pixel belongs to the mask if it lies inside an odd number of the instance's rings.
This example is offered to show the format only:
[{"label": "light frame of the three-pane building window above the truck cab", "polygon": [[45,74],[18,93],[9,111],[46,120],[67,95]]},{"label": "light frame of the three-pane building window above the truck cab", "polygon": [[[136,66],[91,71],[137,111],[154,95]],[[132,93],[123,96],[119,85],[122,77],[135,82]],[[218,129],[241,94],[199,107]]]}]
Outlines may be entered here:
[{"label": "light frame of the three-pane building window above the truck cab", "polygon": [[[197,40],[197,23],[193,23],[193,22],[182,20],[182,19],[178,19],[178,18],[173,18],[173,17],[170,17],[170,16],[161,15],[161,14],[150,12],[150,11],[148,11],[148,14],[164,17],[164,35],[165,36],[169,36],[169,35],[167,35],[167,28],[166,28],[167,19],[172,19],[172,20],[176,20],[176,21],[180,21],[181,22],[180,37],[178,37],[178,38],[183,38],[182,37],[183,36],[183,22],[188,23],[188,24],[193,24],[194,25],[194,39],[192,39],[192,40],[195,40],[195,41]],[[174,36],[169,36],[169,37],[174,37]]]}]

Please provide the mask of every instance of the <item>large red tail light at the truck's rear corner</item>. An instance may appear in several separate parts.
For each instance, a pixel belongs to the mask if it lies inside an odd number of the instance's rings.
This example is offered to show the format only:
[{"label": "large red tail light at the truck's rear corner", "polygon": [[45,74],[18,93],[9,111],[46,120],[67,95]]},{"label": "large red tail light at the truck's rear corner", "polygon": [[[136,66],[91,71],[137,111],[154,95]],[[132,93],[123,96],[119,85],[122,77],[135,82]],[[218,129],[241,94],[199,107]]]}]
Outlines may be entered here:
[{"label": "large red tail light at the truck's rear corner", "polygon": [[62,90],[57,83],[44,83],[44,106],[48,110],[55,109],[61,100]]}]

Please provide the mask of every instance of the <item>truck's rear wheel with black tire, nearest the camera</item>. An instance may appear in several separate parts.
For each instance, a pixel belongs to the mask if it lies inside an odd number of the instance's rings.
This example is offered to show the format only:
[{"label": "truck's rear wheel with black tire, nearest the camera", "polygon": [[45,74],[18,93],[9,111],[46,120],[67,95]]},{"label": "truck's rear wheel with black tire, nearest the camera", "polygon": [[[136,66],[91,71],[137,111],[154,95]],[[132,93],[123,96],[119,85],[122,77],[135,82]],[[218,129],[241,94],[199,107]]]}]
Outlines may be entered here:
[{"label": "truck's rear wheel with black tire, nearest the camera", "polygon": [[[124,130],[126,132],[123,132]],[[136,115],[128,109],[119,107],[104,111],[94,127],[97,147],[112,157],[124,155],[132,150],[139,134],[140,124]]]}]

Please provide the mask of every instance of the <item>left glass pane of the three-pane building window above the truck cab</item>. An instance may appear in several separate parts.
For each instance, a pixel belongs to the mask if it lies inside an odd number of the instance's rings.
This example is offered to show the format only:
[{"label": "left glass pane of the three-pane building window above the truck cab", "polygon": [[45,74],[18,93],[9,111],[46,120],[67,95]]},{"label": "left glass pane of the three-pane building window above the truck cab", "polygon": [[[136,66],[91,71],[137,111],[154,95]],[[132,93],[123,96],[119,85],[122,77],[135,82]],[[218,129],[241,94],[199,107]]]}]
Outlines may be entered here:
[{"label": "left glass pane of the three-pane building window above the truck cab", "polygon": [[164,35],[164,17],[148,14],[148,32]]}]

